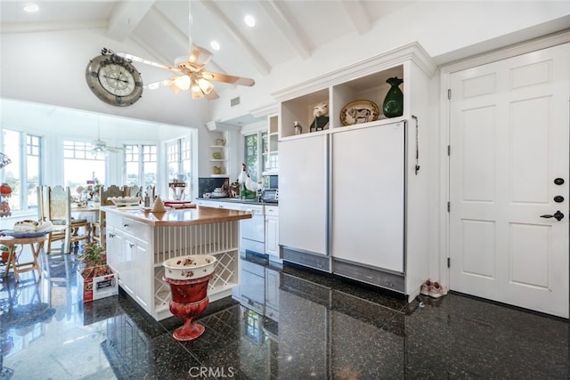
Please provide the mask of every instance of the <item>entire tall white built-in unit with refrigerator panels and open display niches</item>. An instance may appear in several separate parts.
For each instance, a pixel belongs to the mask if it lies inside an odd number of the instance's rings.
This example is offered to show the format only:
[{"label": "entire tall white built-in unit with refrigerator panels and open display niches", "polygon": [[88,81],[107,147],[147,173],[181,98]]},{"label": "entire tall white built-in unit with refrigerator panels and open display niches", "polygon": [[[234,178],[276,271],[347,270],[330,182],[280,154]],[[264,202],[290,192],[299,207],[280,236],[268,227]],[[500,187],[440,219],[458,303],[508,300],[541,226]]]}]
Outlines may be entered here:
[{"label": "entire tall white built-in unit with refrigerator panels and open display niches", "polygon": [[[408,44],[273,93],[280,101],[284,261],[386,287],[410,300],[419,294],[429,272],[429,215],[436,211],[428,201],[436,191],[429,178],[437,162],[428,143],[435,69],[419,44]],[[382,115],[390,77],[403,78],[401,117]],[[314,106],[322,101],[329,104],[329,128],[309,133]],[[343,125],[341,111],[352,101],[373,101],[379,118]],[[304,127],[300,135],[295,121]]]}]

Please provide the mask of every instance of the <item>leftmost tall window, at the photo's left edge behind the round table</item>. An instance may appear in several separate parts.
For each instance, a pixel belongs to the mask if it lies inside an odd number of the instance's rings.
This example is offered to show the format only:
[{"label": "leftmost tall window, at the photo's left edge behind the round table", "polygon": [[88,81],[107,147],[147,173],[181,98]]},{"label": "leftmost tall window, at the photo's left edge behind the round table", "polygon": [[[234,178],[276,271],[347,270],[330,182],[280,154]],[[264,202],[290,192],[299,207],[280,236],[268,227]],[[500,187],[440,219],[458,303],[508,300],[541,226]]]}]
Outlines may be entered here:
[{"label": "leftmost tall window, at the photo's left edge behind the round table", "polygon": [[2,182],[12,187],[12,211],[37,208],[36,187],[41,183],[42,138],[25,132],[4,129],[3,152],[12,160],[4,167]]}]

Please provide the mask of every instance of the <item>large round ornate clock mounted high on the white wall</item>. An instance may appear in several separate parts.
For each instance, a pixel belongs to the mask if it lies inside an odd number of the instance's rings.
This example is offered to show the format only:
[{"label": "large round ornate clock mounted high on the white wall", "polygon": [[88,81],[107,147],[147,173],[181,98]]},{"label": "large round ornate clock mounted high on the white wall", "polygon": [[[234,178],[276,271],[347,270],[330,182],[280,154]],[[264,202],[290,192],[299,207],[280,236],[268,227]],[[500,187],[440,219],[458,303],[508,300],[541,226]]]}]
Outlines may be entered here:
[{"label": "large round ornate clock mounted high on the white wall", "polygon": [[142,77],[130,61],[103,54],[89,61],[85,79],[91,91],[114,106],[130,106],[142,96]]}]

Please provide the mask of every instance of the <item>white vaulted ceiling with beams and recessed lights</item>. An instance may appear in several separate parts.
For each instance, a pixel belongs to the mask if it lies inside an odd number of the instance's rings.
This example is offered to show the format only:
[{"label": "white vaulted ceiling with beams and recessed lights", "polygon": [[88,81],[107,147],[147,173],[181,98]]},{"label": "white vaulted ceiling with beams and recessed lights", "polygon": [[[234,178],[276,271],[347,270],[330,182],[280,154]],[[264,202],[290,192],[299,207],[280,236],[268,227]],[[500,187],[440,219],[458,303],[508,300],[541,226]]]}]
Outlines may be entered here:
[{"label": "white vaulted ceiling with beams and recessed lights", "polygon": [[[111,39],[132,41],[151,53],[144,58],[167,64],[188,55],[192,41],[214,53],[208,70],[255,78],[270,75],[285,61],[311,57],[319,46],[341,36],[365,34],[374,23],[413,2],[38,0],[35,13],[24,12],[25,3],[1,2],[2,33],[101,28]],[[255,27],[245,24],[246,15],[256,19]],[[219,51],[210,47],[214,40]]]}]

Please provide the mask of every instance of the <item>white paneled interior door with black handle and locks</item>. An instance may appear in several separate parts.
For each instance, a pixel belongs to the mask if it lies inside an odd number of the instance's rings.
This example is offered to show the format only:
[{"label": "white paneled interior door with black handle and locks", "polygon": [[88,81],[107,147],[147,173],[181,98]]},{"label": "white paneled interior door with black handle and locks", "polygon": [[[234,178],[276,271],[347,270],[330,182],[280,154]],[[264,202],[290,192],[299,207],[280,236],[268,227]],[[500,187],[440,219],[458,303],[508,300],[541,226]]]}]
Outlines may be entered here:
[{"label": "white paneled interior door with black handle and locks", "polygon": [[452,74],[450,122],[450,288],[566,318],[569,56]]}]

